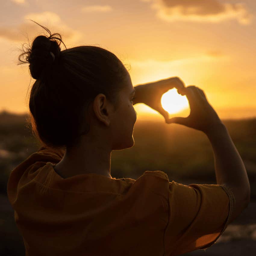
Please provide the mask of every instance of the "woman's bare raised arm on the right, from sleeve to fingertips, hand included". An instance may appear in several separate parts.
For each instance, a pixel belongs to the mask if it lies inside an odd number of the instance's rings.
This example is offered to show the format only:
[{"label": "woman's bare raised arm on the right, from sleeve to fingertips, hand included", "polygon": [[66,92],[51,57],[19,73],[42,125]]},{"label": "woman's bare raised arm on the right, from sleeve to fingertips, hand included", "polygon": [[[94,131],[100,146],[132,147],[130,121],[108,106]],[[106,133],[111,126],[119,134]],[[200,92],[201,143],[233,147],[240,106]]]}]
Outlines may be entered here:
[{"label": "woman's bare raised arm on the right, from sleeve to fingertips, hand included", "polygon": [[217,184],[225,185],[235,197],[233,221],[250,202],[251,190],[245,165],[204,91],[197,86],[188,86],[180,92],[189,99],[190,114],[188,117],[173,117],[169,122],[201,130],[208,136],[214,151]]}]

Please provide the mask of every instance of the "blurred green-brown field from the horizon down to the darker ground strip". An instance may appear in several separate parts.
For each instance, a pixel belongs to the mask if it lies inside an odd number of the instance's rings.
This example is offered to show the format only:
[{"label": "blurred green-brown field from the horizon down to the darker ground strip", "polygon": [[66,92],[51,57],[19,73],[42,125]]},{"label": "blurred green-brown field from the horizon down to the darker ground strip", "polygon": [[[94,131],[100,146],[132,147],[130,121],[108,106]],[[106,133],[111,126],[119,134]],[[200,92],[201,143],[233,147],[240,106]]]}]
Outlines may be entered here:
[{"label": "blurred green-brown field from the horizon down to the darker ground strip", "polygon": [[[0,191],[9,173],[40,147],[25,126],[25,115],[0,113]],[[223,120],[248,172],[251,196],[256,198],[256,118]],[[162,170],[169,180],[216,184],[214,155],[207,136],[179,124],[137,120],[132,148],[113,151],[111,175],[137,179],[146,170]],[[181,182],[180,182],[181,183]],[[252,186],[253,185],[253,186]]]}]

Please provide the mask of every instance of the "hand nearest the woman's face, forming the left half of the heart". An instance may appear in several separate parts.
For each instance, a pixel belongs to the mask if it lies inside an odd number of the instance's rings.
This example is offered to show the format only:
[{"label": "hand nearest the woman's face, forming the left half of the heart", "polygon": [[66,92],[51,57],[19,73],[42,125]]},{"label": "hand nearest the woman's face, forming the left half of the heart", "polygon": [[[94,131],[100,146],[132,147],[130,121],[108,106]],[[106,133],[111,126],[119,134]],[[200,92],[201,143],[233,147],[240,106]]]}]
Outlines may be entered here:
[{"label": "hand nearest the woman's face, forming the left half of the heart", "polygon": [[168,120],[169,114],[162,107],[161,97],[165,92],[174,87],[177,88],[180,93],[182,92],[182,89],[185,88],[185,85],[179,77],[174,76],[136,87],[137,86],[135,86],[136,103],[144,103],[148,105],[150,108],[158,111],[165,120]]}]

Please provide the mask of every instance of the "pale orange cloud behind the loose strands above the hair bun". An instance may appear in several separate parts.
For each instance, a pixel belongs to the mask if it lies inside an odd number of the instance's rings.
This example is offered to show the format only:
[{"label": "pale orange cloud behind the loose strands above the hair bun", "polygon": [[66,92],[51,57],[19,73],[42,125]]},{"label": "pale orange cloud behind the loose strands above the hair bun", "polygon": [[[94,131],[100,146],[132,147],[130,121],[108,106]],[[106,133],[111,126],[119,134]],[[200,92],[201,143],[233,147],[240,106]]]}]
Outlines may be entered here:
[{"label": "pale orange cloud behind the loose strands above the hair bun", "polygon": [[82,37],[82,33],[65,25],[58,14],[49,11],[27,14],[24,16],[22,23],[17,26],[0,27],[0,37],[15,42],[23,42],[26,34],[29,39],[37,36],[40,33],[39,31],[47,34],[43,28],[29,19],[47,27],[52,33],[60,33],[64,40],[68,39],[74,42]]}]

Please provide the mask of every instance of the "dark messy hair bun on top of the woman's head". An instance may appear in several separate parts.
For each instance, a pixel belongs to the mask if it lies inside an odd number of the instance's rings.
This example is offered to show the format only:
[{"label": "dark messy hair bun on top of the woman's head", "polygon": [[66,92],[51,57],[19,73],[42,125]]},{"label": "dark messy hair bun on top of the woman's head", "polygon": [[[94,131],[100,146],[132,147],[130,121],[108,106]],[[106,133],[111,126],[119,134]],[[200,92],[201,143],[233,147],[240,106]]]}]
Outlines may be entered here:
[{"label": "dark messy hair bun on top of the woman's head", "polygon": [[[50,54],[52,52],[54,57]],[[34,79],[42,79],[51,70],[53,62],[60,56],[61,49],[55,40],[47,36],[37,36],[32,44],[28,62]]]}]

